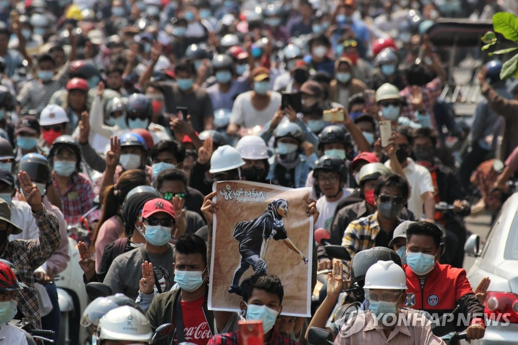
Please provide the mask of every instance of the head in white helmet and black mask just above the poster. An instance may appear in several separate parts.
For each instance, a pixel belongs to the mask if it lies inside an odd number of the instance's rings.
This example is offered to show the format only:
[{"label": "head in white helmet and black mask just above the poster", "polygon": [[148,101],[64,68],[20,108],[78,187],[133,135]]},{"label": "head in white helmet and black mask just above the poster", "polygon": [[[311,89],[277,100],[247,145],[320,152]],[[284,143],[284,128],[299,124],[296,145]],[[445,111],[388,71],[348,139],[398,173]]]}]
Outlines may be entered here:
[{"label": "head in white helmet and black mask just above the poster", "polygon": [[247,135],[239,139],[236,145],[244,165],[241,174],[246,181],[266,182],[270,171],[268,148],[264,140],[255,135]]}]

